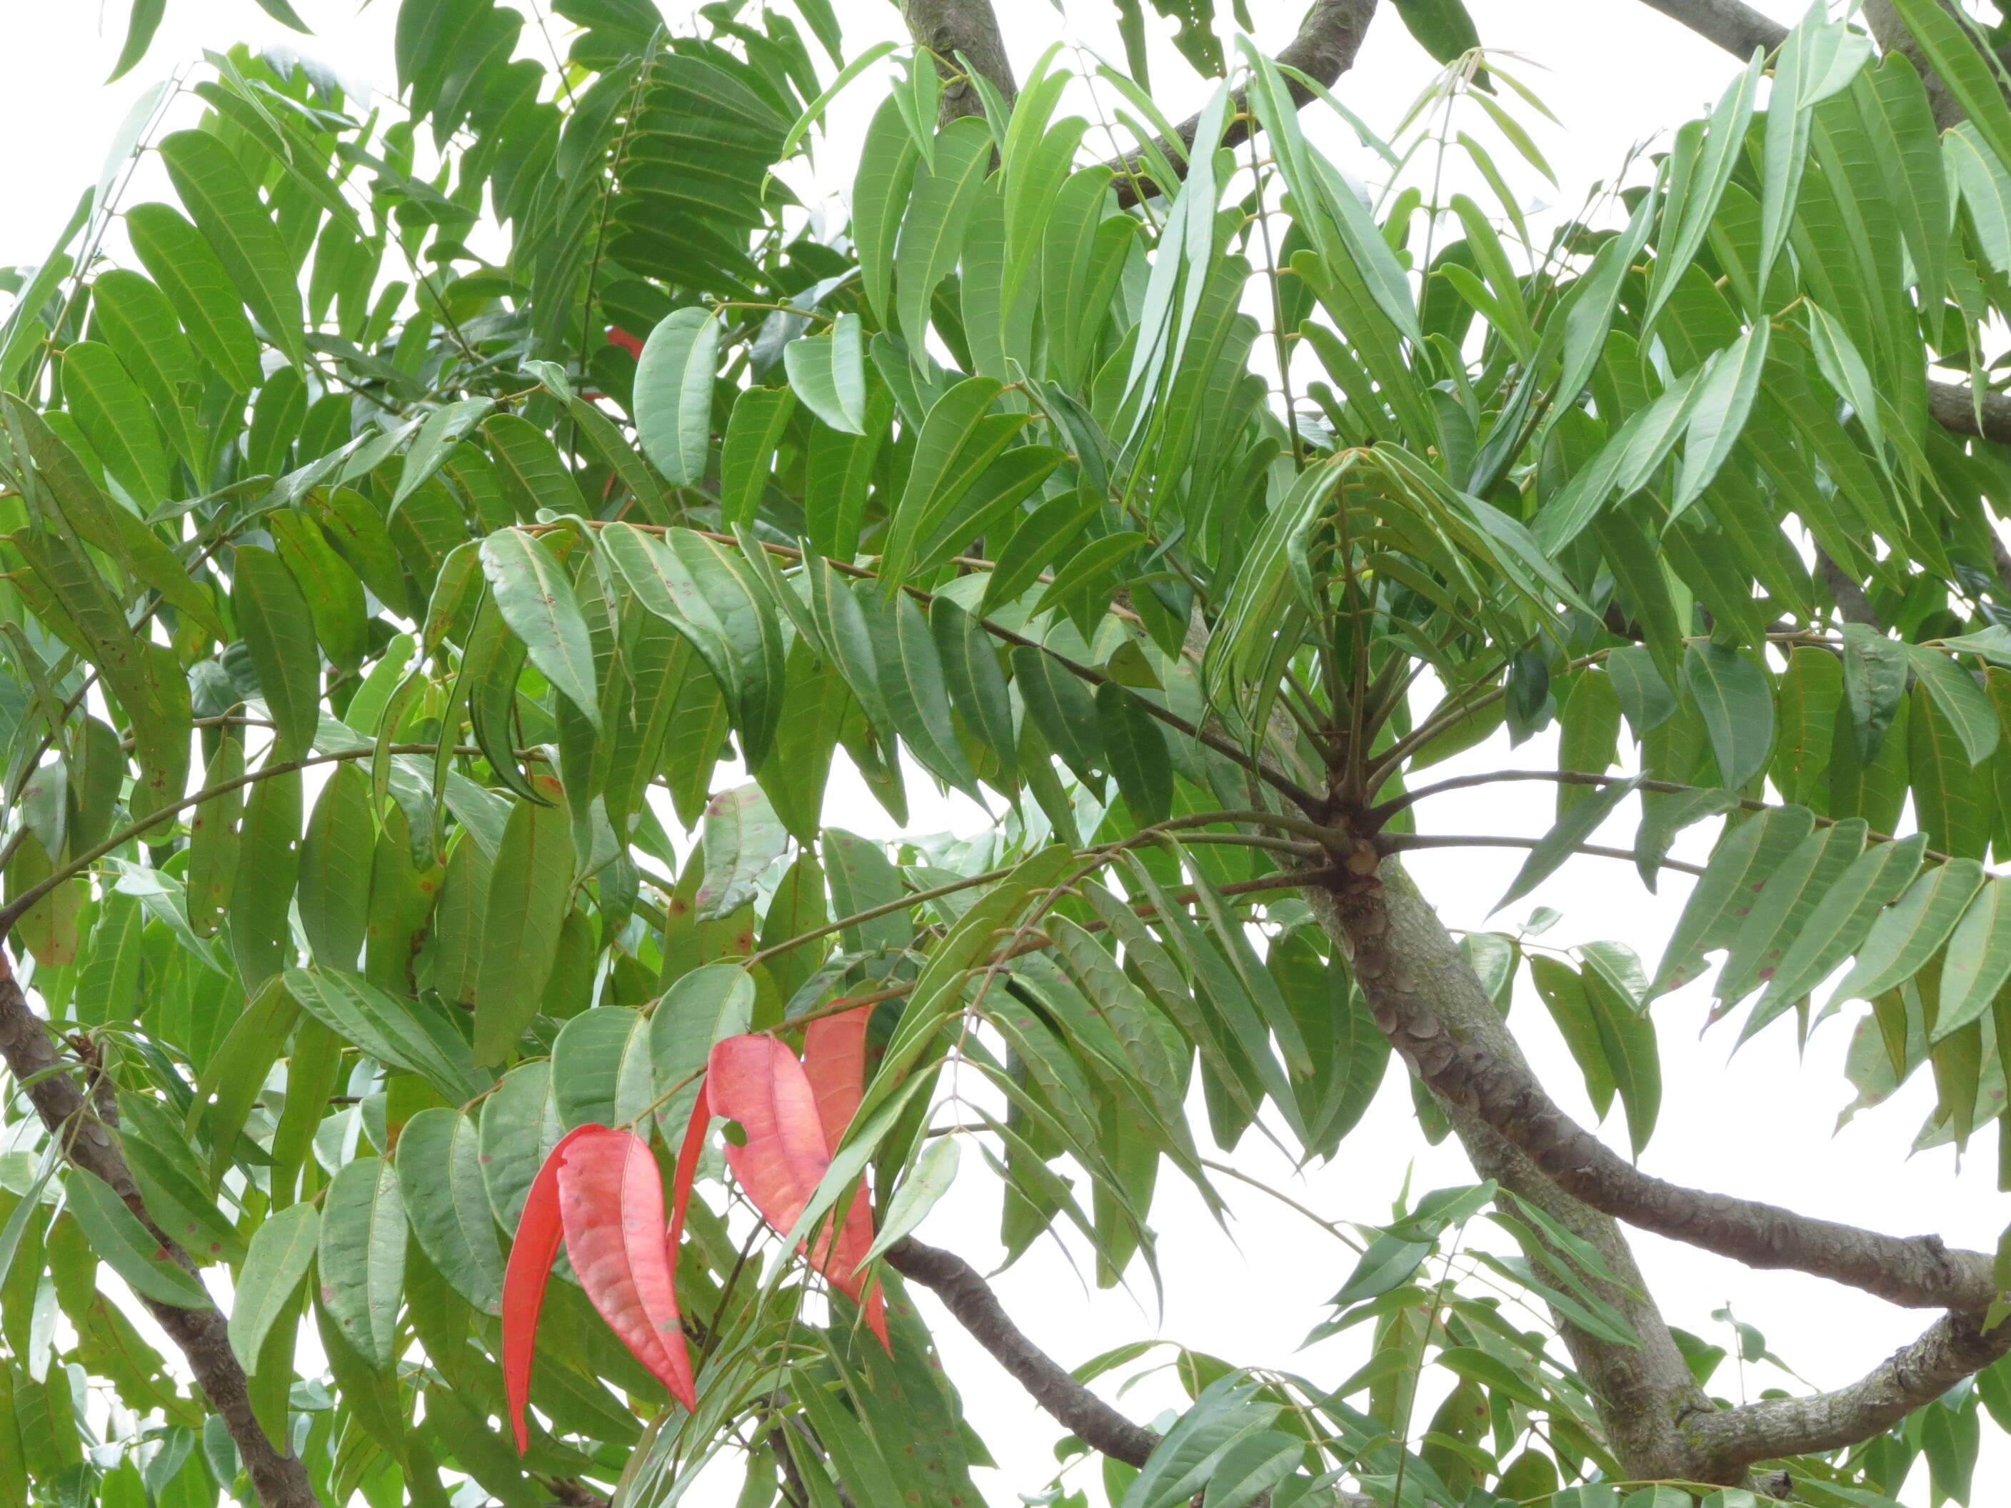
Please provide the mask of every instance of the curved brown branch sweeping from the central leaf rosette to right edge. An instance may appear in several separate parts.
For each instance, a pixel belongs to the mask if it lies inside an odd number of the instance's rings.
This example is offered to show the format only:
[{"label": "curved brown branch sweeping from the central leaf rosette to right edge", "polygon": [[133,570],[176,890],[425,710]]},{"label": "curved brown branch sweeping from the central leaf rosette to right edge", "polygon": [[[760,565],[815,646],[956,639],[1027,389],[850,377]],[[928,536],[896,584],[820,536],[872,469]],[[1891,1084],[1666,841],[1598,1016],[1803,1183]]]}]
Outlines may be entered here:
[{"label": "curved brown branch sweeping from the central leaf rosette to right edge", "polygon": [[1627,1224],[1683,1241],[1748,1267],[1794,1269],[1864,1289],[1908,1309],[1979,1313],[1997,1297],[1991,1259],[1951,1251],[1941,1237],[1888,1237],[1774,1204],[1653,1178],[1567,1116],[1536,1076],[1472,1031],[1450,1027],[1432,987],[1394,939],[1394,865],[1349,881],[1333,897],[1343,943],[1376,1023],[1412,1070],[1448,1104],[1478,1116],[1559,1188]]}]

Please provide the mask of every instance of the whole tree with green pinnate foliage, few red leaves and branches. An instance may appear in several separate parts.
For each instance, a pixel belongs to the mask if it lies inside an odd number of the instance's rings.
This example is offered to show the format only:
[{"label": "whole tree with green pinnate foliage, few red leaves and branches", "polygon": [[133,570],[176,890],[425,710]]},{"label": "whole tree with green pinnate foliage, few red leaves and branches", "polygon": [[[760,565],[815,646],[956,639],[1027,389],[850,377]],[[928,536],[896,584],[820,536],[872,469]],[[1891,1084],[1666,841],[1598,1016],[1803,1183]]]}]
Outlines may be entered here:
[{"label": "whole tree with green pinnate foliage, few red leaves and branches", "polygon": [[[137,123],[179,203],[109,179],[0,328],[0,1496],[658,1504],[738,1456],[750,1504],[971,1502],[921,1287],[1124,1508],[1886,1504],[1923,1456],[1967,1500],[1995,1259],[1641,1164],[1713,957],[1742,1033],[1868,1003],[1860,1100],[1927,1068],[1929,1140],[2011,1124],[2001,38],[1651,4],[1750,66],[1548,241],[1458,0],[1275,58],[1154,0],[1221,78],[1178,127],[1120,6],[1112,163],[1058,54],[909,0],[843,231],[772,171],[877,60],[825,0],[561,0],[551,68],[404,0],[396,111],[235,50]],[[1442,64],[1392,143],[1331,95],[1372,24]],[[1430,199],[1448,155],[1498,203]],[[1557,770],[1430,774],[1552,722]],[[825,828],[839,750],[1001,818]],[[1557,826],[1418,830],[1488,782]],[[1506,901],[1695,885],[1653,971],[1454,941],[1402,857],[1456,844],[1528,851]],[[1162,1164],[1331,1158],[1392,1052],[1476,1182],[1369,1233],[1353,1377],[1180,1353],[1154,1432],[1088,1385],[1136,1349],[1072,1375],[913,1237],[991,1176],[1014,1257],[1154,1279]],[[1520,1255],[1430,1261],[1480,1216]],[[1731,1405],[1629,1229],[1933,1319]]]}]

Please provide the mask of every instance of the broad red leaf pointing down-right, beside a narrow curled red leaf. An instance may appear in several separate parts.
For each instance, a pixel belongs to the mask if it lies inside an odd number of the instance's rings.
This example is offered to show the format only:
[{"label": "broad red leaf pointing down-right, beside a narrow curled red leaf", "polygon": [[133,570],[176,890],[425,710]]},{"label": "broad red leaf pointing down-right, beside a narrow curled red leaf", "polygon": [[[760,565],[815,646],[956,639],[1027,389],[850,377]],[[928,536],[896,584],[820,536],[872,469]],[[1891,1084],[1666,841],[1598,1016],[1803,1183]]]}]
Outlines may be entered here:
[{"label": "broad red leaf pointing down-right, beside a narrow curled red leaf", "polygon": [[633,1132],[583,1126],[559,1162],[559,1218],[579,1287],[686,1409],[698,1407],[664,1241],[664,1178]]}]

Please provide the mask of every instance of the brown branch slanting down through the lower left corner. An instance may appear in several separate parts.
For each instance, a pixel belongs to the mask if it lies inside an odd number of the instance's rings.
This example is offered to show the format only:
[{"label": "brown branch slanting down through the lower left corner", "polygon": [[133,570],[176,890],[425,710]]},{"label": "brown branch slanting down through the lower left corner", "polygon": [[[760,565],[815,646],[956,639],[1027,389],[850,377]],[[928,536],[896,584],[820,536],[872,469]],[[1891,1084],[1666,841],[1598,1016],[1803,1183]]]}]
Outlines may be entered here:
[{"label": "brown branch slanting down through the lower left corner", "polygon": [[[117,1102],[109,1092],[101,1092],[86,1106],[72,1074],[60,1072],[64,1060],[56,1052],[56,1044],[50,1042],[48,1027],[28,1009],[4,951],[0,951],[0,1056],[6,1058],[14,1082],[24,1086],[22,1092],[42,1114],[50,1136],[62,1142],[70,1164],[109,1182],[113,1192],[141,1218],[147,1233],[161,1243],[161,1251],[201,1283],[189,1253],[153,1222],[145,1200],[141,1200],[139,1184],[133,1182],[133,1170],[127,1166],[115,1136]],[[99,1088],[109,1090],[103,1080]],[[316,1508],[308,1470],[292,1452],[276,1450],[251,1413],[245,1373],[231,1351],[223,1315],[213,1305],[175,1309],[153,1299],[141,1299],[141,1303],[167,1331],[167,1337],[181,1347],[189,1371],[195,1375],[195,1385],[223,1416],[261,1508]]]}]

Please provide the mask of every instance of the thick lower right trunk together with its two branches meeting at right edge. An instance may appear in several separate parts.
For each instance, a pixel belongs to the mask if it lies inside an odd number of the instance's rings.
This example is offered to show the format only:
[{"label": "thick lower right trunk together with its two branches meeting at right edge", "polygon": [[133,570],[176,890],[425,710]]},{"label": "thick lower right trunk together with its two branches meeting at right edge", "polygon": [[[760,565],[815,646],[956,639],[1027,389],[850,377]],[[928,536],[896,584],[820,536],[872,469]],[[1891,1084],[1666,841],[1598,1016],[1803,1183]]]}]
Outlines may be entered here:
[{"label": "thick lower right trunk together with its two branches meeting at right edge", "polygon": [[[1995,1299],[1983,1253],[1679,1188],[1641,1174],[1573,1124],[1528,1072],[1464,955],[1394,859],[1305,895],[1353,965],[1376,1023],[1446,1106],[1474,1168],[1595,1241],[1625,1287],[1637,1289],[1607,1297],[1641,1333],[1641,1351],[1601,1347],[1559,1321],[1631,1474],[1742,1484],[1756,1462],[1868,1440],[2011,1351],[2011,1325],[1979,1329]],[[1848,1387],[1715,1409],[1675,1353],[1609,1216],[1748,1267],[1792,1267],[1953,1313]]]}]

